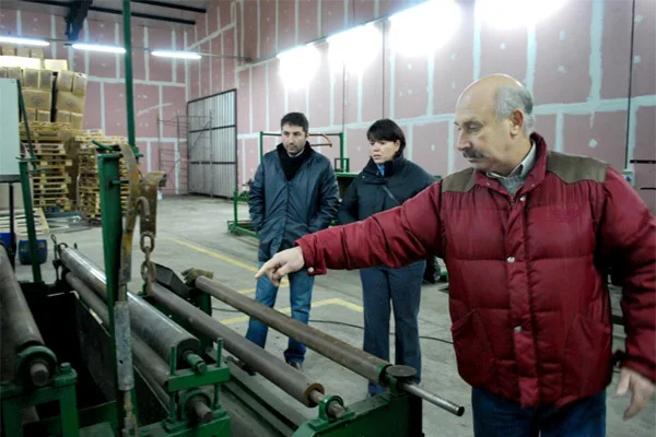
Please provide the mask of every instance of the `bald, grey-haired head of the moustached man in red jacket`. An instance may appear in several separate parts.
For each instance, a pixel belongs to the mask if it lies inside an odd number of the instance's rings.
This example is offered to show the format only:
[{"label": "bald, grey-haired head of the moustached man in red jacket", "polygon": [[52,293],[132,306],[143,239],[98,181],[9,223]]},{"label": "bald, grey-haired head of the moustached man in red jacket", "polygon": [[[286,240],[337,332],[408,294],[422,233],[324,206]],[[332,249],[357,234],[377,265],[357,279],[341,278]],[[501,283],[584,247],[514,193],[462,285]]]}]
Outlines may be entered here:
[{"label": "bald, grey-haired head of the moustached man in red jacket", "polygon": [[532,125],[530,92],[506,74],[473,82],[456,105],[458,150],[484,172],[509,173],[519,164],[530,149]]}]

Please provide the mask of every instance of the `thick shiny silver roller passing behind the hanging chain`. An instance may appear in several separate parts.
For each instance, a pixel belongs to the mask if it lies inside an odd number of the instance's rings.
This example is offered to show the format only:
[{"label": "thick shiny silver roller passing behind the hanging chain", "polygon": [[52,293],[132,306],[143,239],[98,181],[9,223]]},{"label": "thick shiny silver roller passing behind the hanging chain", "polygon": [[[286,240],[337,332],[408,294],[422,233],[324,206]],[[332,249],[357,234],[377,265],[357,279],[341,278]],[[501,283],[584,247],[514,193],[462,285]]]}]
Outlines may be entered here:
[{"label": "thick shiny silver roller passing behind the hanging chain", "polygon": [[[107,300],[106,277],[102,269],[75,249],[65,248],[61,250],[60,257],[63,265],[87,284],[101,298]],[[168,362],[171,346],[177,349],[178,363],[184,363],[188,353],[198,353],[200,342],[197,338],[154,309],[141,297],[128,293],[128,300],[130,303],[130,324],[132,329],[166,363]]]}]

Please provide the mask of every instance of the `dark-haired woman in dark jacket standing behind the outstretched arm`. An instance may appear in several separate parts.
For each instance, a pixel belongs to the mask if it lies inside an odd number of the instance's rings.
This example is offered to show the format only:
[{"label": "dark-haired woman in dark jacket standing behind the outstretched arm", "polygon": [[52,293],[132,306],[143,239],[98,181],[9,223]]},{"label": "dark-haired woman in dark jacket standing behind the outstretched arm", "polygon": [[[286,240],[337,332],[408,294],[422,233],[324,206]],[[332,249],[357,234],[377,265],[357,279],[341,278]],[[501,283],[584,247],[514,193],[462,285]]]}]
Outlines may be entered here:
[{"label": "dark-haired woman in dark jacket standing behind the outstretched arm", "polygon": [[[403,158],[406,137],[394,121],[383,119],[374,122],[366,137],[371,144],[371,158],[344,193],[337,215],[342,225],[398,206],[434,181],[420,166]],[[418,315],[425,267],[425,261],[419,261],[400,269],[379,265],[360,271],[364,304],[364,351],[389,361],[391,300],[396,326],[396,364],[414,367],[417,382],[421,379]],[[370,382],[370,395],[382,391],[384,389],[380,386]]]}]

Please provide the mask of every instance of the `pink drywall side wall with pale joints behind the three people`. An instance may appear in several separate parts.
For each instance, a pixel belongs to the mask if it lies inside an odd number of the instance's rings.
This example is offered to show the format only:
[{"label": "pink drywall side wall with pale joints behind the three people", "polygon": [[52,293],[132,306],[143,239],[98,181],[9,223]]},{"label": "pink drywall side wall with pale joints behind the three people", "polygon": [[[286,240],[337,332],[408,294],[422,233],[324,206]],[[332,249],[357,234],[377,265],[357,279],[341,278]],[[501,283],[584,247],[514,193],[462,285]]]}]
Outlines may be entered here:
[{"label": "pink drywall side wall with pale joints behind the three people", "polygon": [[[317,131],[343,131],[353,170],[366,162],[366,127],[380,117],[405,129],[408,155],[435,174],[467,166],[455,151],[453,110],[458,94],[475,79],[494,72],[516,76],[534,92],[538,132],[554,150],[585,154],[624,168],[629,157],[654,158],[656,145],[656,3],[637,0],[629,117],[631,1],[566,0],[534,28],[499,28],[475,16],[473,2],[460,1],[455,35],[434,52],[411,57],[391,49],[390,23],[380,32],[375,56],[362,73],[333,72],[328,44],[319,43],[320,64],[301,90],[286,88],[274,55],[356,24],[408,8],[419,0],[221,0],[204,22],[187,32],[187,48],[238,54],[232,60],[189,67],[188,96],[237,87],[239,180],[257,168],[257,132],[276,131],[285,111],[307,114]],[[258,25],[259,23],[259,25]],[[222,51],[218,51],[222,50]],[[347,66],[348,67],[348,66]],[[348,70],[348,69],[347,69]],[[628,119],[630,120],[628,126]],[[326,147],[320,147],[326,149]],[[321,150],[337,156],[337,150]],[[635,166],[636,187],[656,185],[654,166]],[[640,191],[656,210],[654,191]]]}]

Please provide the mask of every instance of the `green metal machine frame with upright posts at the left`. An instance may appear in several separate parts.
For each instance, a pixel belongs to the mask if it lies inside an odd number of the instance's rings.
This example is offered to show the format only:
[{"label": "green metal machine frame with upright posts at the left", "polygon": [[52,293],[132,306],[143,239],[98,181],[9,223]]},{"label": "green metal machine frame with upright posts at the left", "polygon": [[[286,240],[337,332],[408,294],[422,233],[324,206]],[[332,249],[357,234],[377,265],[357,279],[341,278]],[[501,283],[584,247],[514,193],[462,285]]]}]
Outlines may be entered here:
[{"label": "green metal machine frame with upright posts at the left", "polygon": [[[124,156],[125,154],[130,154],[133,156],[132,160],[136,161],[138,157],[140,157],[140,155],[134,141],[130,16],[130,1],[122,0],[124,42],[126,48],[126,105],[128,144],[130,144],[130,147],[124,150]],[[61,326],[61,321],[54,320],[51,317],[46,316],[49,314],[48,311],[52,309],[65,309],[66,311],[70,311],[67,312],[68,317],[62,319],[69,320],[71,316],[74,317],[77,311],[75,306],[79,305],[79,300],[72,294],[70,286],[65,284],[63,281],[59,279],[59,274],[57,282],[52,285],[45,284],[42,279],[40,265],[37,261],[38,246],[36,239],[35,217],[32,208],[30,174],[43,172],[45,168],[37,168],[36,165],[25,105],[21,93],[21,83],[20,81],[17,83],[20,110],[23,114],[23,119],[25,120],[28,146],[28,156],[21,158],[19,166],[33,276],[33,281],[31,283],[22,282],[20,285],[26,300],[31,303],[32,309],[39,312],[39,316],[42,316],[42,319],[37,320],[37,324],[43,324],[40,330],[45,331],[44,334],[47,335],[48,332],[47,330],[44,330],[44,327],[54,328],[57,327],[57,324]],[[112,147],[110,145],[98,143],[96,143],[96,145],[105,151],[112,150],[113,152],[118,152],[117,147]],[[44,346],[31,346],[16,357],[16,368],[21,366],[21,363],[27,357],[27,354],[38,353],[42,354],[40,356],[49,357],[49,359],[52,359],[55,363],[57,363],[55,367],[55,374],[50,382],[40,388],[25,386],[24,383],[21,383],[20,380],[3,380],[0,383],[0,402],[2,404],[3,423],[2,428],[7,436],[20,437],[24,433],[27,435],[62,435],[63,437],[77,437],[85,435],[133,436],[137,435],[137,428],[139,429],[140,436],[153,437],[227,437],[231,435],[230,417],[227,417],[225,411],[221,409],[219,402],[219,388],[221,383],[230,379],[230,369],[221,364],[221,347],[219,347],[218,356],[203,356],[206,362],[209,364],[203,367],[201,375],[191,369],[178,369],[177,363],[175,362],[176,355],[173,354],[172,362],[169,363],[171,376],[166,385],[166,391],[171,394],[172,400],[171,405],[168,405],[168,416],[159,422],[140,424],[136,411],[138,399],[134,383],[128,383],[127,387],[125,383],[126,379],[133,380],[131,350],[127,349],[126,351],[125,347],[122,347],[121,351],[121,347],[119,347],[117,343],[117,336],[125,338],[126,332],[128,335],[130,332],[129,324],[126,326],[120,321],[125,321],[125,314],[127,314],[127,311],[124,311],[124,309],[127,309],[127,306],[124,305],[121,308],[120,305],[115,305],[120,304],[121,296],[125,299],[127,293],[127,281],[125,281],[125,275],[121,276],[121,274],[125,273],[125,271],[121,271],[121,267],[125,267],[126,264],[126,260],[125,258],[121,259],[121,256],[125,257],[126,251],[121,248],[124,229],[120,186],[130,184],[130,181],[120,180],[119,178],[120,157],[120,153],[112,152],[104,153],[98,156],[98,169],[101,176],[101,208],[103,210],[103,251],[105,259],[105,272],[107,276],[107,311],[109,317],[109,324],[106,327],[107,330],[105,332],[108,341],[105,341],[105,343],[110,344],[108,347],[110,359],[107,359],[106,364],[108,364],[107,367],[110,369],[109,373],[112,374],[110,379],[113,379],[113,383],[110,383],[110,386],[114,386],[116,389],[115,399],[109,402],[80,408],[80,399],[78,398],[77,393],[77,385],[80,382],[79,373],[71,366],[70,363],[66,361],[58,361],[58,357],[55,356],[55,353],[50,349]],[[30,165],[32,165],[32,169],[28,167]],[[131,205],[131,208],[137,208],[137,204]],[[134,211],[129,211],[129,213],[134,213]],[[129,249],[127,250],[127,255],[131,256]],[[128,260],[127,263],[129,265],[130,261]],[[57,271],[62,267],[61,261],[57,259],[57,257],[54,261],[54,264]],[[38,305],[39,302],[42,303],[40,306]],[[62,306],[52,306],[54,304]],[[44,306],[48,308],[44,310],[44,308],[42,308]],[[121,317],[118,317],[119,315],[116,312],[116,309],[118,308],[120,308]],[[35,312],[35,315],[37,312]],[[91,319],[91,316],[89,317]],[[71,334],[71,332],[68,332],[68,334]],[[46,343],[50,344],[48,340],[46,340]],[[58,345],[61,346],[61,344]],[[126,352],[129,355],[129,359],[126,359],[128,358]],[[69,351],[65,351],[63,355],[69,355]],[[122,367],[122,371],[119,371],[119,367]],[[122,375],[119,376],[119,373]],[[89,378],[86,379],[86,382],[90,382]],[[211,400],[214,418],[202,425],[190,427],[185,421],[185,412],[177,408],[177,402],[180,401],[180,397],[187,397],[190,395],[190,393],[198,394],[198,390],[196,390],[196,388],[204,386],[214,386],[214,395]],[[181,399],[181,401],[184,401],[184,399]],[[47,414],[43,420],[31,422],[25,425],[23,424],[24,409],[36,408],[51,403],[58,404],[56,413],[50,412],[51,414]]]}]

